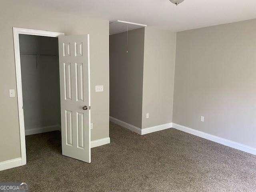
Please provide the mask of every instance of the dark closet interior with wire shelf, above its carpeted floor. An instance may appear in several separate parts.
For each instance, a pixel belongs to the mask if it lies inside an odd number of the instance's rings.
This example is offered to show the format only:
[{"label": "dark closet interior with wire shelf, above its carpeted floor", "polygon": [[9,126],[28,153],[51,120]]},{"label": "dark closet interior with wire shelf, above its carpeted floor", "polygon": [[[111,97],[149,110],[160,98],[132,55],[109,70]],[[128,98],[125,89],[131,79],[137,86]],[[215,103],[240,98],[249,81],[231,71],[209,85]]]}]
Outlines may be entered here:
[{"label": "dark closet interior with wire shelf, above its carpeted floor", "polygon": [[25,134],[60,130],[58,38],[19,35]]}]

